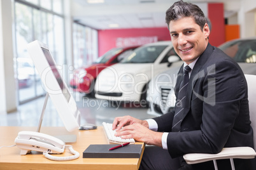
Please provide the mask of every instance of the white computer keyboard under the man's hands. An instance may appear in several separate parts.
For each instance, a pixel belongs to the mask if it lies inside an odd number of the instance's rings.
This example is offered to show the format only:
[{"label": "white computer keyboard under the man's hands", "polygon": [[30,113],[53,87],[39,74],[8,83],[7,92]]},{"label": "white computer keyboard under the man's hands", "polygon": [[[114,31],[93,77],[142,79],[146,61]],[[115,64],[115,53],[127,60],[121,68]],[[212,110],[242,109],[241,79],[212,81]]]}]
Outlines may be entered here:
[{"label": "white computer keyboard under the man's hands", "polygon": [[115,136],[115,130],[112,130],[112,124],[111,123],[106,123],[103,122],[103,128],[104,131],[106,132],[106,136],[108,138],[108,141],[110,141],[110,143],[118,143],[118,144],[122,144],[122,143],[135,143],[133,138],[130,139],[122,139],[118,136]]}]

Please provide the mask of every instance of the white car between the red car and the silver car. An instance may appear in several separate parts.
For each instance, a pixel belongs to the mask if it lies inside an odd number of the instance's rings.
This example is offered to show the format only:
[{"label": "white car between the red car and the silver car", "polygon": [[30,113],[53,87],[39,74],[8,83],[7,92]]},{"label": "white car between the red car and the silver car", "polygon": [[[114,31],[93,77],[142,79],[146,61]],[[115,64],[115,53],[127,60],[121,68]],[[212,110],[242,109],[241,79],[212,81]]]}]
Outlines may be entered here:
[{"label": "white car between the red car and the silver car", "polygon": [[141,46],[122,62],[101,71],[96,80],[96,98],[146,104],[146,90],[152,77],[182,63],[171,41]]}]

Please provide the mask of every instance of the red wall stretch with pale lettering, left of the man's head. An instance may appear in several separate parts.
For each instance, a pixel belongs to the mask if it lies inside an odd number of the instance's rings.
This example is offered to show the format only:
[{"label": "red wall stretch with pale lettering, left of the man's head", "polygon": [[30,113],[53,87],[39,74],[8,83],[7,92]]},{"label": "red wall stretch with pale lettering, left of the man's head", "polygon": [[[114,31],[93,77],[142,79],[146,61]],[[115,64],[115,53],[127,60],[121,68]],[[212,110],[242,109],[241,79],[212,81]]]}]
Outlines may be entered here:
[{"label": "red wall stretch with pale lettering, left of the man's head", "polygon": [[157,36],[158,41],[170,40],[170,34],[167,26],[164,28],[149,29],[113,29],[99,30],[99,56],[106,53],[111,48],[115,48],[118,37],[152,37]]}]

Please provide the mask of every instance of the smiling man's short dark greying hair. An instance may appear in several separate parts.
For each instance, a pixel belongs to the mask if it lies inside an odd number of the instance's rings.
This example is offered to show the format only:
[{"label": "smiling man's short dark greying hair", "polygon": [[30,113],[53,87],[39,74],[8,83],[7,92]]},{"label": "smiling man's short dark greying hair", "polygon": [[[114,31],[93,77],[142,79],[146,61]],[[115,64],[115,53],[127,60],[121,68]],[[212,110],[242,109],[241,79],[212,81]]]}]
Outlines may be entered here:
[{"label": "smiling man's short dark greying hair", "polygon": [[201,27],[203,27],[205,23],[207,23],[206,17],[204,16],[203,11],[196,4],[183,2],[182,0],[174,3],[167,11],[166,11],[166,23],[169,29],[169,23],[172,20],[178,20],[184,17],[192,17],[195,22]]}]

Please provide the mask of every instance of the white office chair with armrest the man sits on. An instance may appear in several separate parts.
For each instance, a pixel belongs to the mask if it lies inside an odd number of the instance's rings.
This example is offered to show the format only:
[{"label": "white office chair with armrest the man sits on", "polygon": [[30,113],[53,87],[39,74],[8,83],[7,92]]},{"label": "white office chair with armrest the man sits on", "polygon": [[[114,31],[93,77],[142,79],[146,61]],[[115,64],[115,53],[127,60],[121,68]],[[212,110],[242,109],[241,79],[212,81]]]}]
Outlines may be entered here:
[{"label": "white office chair with armrest the man sits on", "polygon": [[[248,84],[248,100],[250,110],[250,121],[253,128],[253,144],[256,146],[256,75],[245,74]],[[185,154],[183,158],[187,164],[198,164],[213,160],[215,170],[218,170],[218,159],[230,159],[232,170],[235,169],[233,159],[253,159],[256,155],[255,150],[250,147],[223,148],[218,154]]]}]

